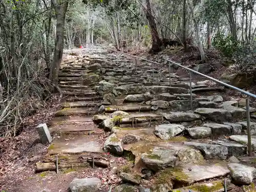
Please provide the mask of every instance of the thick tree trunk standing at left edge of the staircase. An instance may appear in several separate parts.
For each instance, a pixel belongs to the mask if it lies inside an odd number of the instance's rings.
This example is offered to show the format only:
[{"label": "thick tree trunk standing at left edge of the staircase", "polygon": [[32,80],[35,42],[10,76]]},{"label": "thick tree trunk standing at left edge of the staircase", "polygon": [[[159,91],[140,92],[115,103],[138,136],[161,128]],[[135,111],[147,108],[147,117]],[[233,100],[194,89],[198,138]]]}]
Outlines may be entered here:
[{"label": "thick tree trunk standing at left edge of the staircase", "polygon": [[55,7],[57,23],[56,23],[55,50],[54,50],[54,56],[53,56],[49,78],[54,84],[54,86],[57,87],[59,67],[60,67],[60,62],[62,60],[62,54],[63,54],[65,17],[66,17],[69,2],[67,1],[60,5],[57,5],[56,0],[52,0],[52,3],[53,3],[53,6]]}]

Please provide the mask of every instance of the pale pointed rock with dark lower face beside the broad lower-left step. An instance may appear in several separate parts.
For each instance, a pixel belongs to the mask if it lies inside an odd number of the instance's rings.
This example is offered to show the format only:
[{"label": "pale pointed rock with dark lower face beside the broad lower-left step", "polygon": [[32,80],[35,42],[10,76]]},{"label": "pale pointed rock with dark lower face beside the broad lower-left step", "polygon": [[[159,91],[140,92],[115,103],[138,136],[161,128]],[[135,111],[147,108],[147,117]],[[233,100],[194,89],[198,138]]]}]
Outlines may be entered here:
[{"label": "pale pointed rock with dark lower face beside the broad lower-left step", "polygon": [[104,151],[110,152],[111,154],[121,156],[123,154],[122,143],[119,141],[116,134],[112,134],[106,139],[104,143]]}]

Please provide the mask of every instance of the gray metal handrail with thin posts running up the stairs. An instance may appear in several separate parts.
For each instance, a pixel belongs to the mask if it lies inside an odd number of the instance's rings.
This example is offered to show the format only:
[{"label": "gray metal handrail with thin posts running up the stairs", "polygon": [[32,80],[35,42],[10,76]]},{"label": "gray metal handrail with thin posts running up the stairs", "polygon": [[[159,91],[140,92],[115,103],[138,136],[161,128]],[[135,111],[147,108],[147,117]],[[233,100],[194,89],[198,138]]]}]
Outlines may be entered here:
[{"label": "gray metal handrail with thin posts running up the stairs", "polygon": [[[95,46],[95,45],[94,45],[94,46]],[[124,60],[124,61],[125,61],[124,55],[127,55],[127,56],[130,56],[130,57],[134,57],[134,58],[136,58],[136,59],[141,59],[141,60],[144,60],[144,61],[147,61],[147,62],[151,62],[151,63],[152,63],[152,77],[154,77],[154,64],[163,66],[163,64],[158,63],[158,62],[155,62],[155,61],[152,61],[152,60],[144,59],[144,58],[142,58],[142,57],[138,57],[138,56],[134,56],[134,55],[131,55],[131,54],[128,54],[128,53],[124,53],[124,52],[121,52],[121,51],[117,51],[117,50],[114,50],[114,49],[110,49],[110,48],[108,48],[108,47],[103,47],[103,46],[101,46],[101,45],[97,45],[97,46],[100,47],[100,53],[101,53],[101,54],[102,54],[102,48],[105,49],[105,50],[111,50],[111,51],[113,51],[113,52],[117,52],[117,53],[123,54],[123,58],[124,58],[123,60]],[[185,67],[185,66],[180,65],[180,63],[174,62],[174,61],[169,60],[169,59],[167,59],[167,58],[164,58],[164,60],[167,61],[167,65],[168,65],[168,67],[169,67],[169,86],[171,86],[171,80],[170,80],[171,78],[170,78],[170,77],[171,77],[171,67],[172,67],[173,64],[189,71],[190,108],[191,108],[191,110],[193,110],[192,73],[195,73],[195,74],[198,74],[198,75],[200,75],[200,76],[203,76],[203,77],[205,77],[205,78],[207,78],[207,79],[210,79],[210,80],[212,80],[212,81],[215,81],[215,82],[221,84],[221,85],[224,86],[224,87],[227,87],[227,88],[236,90],[236,91],[238,91],[238,92],[240,92],[240,93],[242,93],[242,94],[244,94],[244,95],[247,95],[247,96],[249,96],[249,97],[252,97],[252,98],[255,98],[255,99],[256,99],[256,95],[254,95],[254,94],[252,94],[252,93],[249,93],[249,92],[244,91],[244,90],[242,90],[242,89],[239,89],[239,88],[237,88],[237,87],[231,86],[230,84],[227,84],[227,83],[222,82],[222,81],[220,81],[220,80],[218,80],[218,79],[215,79],[215,78],[212,78],[212,77],[210,77],[210,76],[207,76],[207,75],[205,75],[205,74],[199,73],[199,72],[197,72],[197,71],[195,71],[195,70],[193,70],[193,69],[189,69],[189,68],[187,68],[187,67]],[[112,56],[111,56],[111,62],[112,62]],[[170,63],[172,63],[172,64],[170,64]],[[136,73],[137,73],[137,60],[135,60],[135,69],[136,69]],[[249,99],[248,99],[248,98],[246,98],[246,121],[247,121],[247,138],[248,138],[248,142],[247,142],[247,146],[248,146],[248,155],[249,155],[249,156],[252,156],[251,128],[250,128],[250,106],[249,106]]]}]

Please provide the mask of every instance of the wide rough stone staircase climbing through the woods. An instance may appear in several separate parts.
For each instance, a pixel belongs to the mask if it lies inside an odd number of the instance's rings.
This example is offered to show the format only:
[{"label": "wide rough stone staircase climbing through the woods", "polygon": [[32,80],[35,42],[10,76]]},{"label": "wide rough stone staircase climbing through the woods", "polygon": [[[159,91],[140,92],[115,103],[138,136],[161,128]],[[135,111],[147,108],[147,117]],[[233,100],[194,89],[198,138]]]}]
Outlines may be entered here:
[{"label": "wide rough stone staircase climbing through the woods", "polygon": [[[37,170],[54,169],[55,155],[65,169],[109,152],[132,161],[118,168],[123,184],[113,191],[217,192],[224,179],[227,190],[250,184],[256,169],[234,158],[247,154],[244,106],[224,101],[222,87],[193,82],[190,109],[187,78],[169,75],[167,66],[155,66],[153,78],[150,63],[135,67],[130,59],[103,51],[63,60],[63,109],[51,122],[55,139]],[[208,91],[217,94],[200,96]],[[256,123],[251,130],[256,135]]]}]

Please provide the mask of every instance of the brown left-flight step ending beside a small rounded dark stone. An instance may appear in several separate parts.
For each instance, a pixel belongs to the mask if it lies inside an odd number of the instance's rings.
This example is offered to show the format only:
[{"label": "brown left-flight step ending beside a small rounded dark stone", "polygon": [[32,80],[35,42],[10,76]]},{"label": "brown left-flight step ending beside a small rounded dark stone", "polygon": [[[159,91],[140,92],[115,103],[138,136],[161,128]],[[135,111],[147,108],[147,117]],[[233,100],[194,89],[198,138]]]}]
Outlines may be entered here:
[{"label": "brown left-flight step ending beside a small rounded dark stone", "polygon": [[94,108],[63,108],[57,111],[55,116],[68,116],[68,115],[96,115],[98,113]]}]

